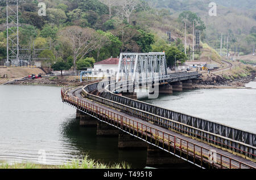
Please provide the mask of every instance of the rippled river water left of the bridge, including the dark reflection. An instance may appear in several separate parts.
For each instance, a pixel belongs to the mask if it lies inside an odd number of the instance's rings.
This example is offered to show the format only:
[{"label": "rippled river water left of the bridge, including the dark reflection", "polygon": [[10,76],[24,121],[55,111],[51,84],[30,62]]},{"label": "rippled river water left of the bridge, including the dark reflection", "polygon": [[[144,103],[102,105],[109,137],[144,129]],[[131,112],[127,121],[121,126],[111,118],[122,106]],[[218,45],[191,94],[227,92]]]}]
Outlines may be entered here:
[{"label": "rippled river water left of the bridge, including the dark reflection", "polygon": [[119,151],[117,138],[96,136],[96,128],[79,127],[76,110],[61,102],[60,88],[0,85],[0,161],[63,164],[85,154],[106,164],[129,162],[143,168],[146,151]]}]

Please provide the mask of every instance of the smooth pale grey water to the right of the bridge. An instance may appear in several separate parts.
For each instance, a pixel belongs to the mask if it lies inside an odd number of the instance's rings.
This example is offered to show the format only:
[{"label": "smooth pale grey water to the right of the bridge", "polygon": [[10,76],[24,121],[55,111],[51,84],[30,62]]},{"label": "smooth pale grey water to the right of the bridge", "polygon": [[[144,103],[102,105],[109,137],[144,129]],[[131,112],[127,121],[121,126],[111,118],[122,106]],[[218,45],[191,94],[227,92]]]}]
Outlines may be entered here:
[{"label": "smooth pale grey water to the right of the bridge", "polygon": [[[256,82],[246,86],[256,88]],[[256,133],[255,89],[197,89],[144,101]]]}]

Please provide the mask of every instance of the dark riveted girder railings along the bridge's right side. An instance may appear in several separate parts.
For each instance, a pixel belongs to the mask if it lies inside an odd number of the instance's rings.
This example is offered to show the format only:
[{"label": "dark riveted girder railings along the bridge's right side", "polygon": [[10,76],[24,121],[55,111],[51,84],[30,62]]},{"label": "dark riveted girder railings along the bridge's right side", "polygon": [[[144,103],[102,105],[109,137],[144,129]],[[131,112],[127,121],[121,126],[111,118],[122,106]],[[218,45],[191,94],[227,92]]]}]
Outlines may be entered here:
[{"label": "dark riveted girder railings along the bridge's right side", "polygon": [[[104,92],[101,95],[102,97],[90,95],[89,92],[96,90],[97,85],[97,83],[87,85],[82,89],[82,93],[92,100],[112,106],[122,112],[129,113],[172,131],[189,135],[191,138],[195,138],[215,147],[224,148],[227,151],[231,150],[237,155],[255,161],[255,146],[245,143],[247,139],[250,139],[250,143],[254,144],[256,139],[255,134],[210,122],[205,119],[191,117],[187,114],[173,112],[172,110],[160,108],[145,102],[132,100],[112,92]],[[108,89],[108,87],[106,87],[106,89]],[[239,141],[242,140],[242,137],[245,135],[247,135],[247,138],[244,142]],[[236,138],[238,140],[236,140]]]}]

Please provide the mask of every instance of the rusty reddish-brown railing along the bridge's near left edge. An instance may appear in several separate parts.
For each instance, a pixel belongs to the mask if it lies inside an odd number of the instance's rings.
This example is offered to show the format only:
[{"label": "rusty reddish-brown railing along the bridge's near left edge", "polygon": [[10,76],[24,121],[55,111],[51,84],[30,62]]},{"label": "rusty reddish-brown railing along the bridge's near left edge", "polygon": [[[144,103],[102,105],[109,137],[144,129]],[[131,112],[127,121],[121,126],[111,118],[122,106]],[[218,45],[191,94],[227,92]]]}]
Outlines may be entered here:
[{"label": "rusty reddish-brown railing along the bridge's near left edge", "polygon": [[209,167],[212,166],[221,169],[255,168],[228,156],[222,155],[221,153],[212,152],[211,149],[204,148],[200,145],[189,142],[188,140],[169,134],[166,131],[161,131],[158,128],[147,125],[146,122],[141,123],[134,119],[127,118],[125,115],[115,113],[114,110],[101,108],[91,102],[80,100],[77,97],[68,95],[64,90],[65,89],[61,89],[61,98],[64,102],[67,102],[84,112],[96,114],[96,117],[101,121],[109,123],[110,125],[131,135],[137,136],[137,138],[153,144],[172,155],[183,158],[192,164],[202,168],[207,164]]}]

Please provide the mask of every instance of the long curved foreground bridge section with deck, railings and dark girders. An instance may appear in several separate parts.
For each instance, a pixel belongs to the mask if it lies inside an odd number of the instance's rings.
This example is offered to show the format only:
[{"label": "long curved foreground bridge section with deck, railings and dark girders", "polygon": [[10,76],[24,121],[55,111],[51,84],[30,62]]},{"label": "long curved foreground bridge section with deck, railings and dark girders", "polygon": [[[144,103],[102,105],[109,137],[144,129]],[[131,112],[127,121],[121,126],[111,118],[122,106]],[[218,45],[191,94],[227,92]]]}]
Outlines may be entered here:
[{"label": "long curved foreground bridge section with deck, railings and dark girders", "polygon": [[[178,76],[166,81],[172,82]],[[228,132],[242,130],[116,95],[108,90],[116,85],[115,80],[105,83],[109,85],[96,82],[85,87],[65,87],[61,89],[61,97],[81,112],[201,168],[256,168],[255,155],[249,152],[255,152],[255,145],[218,135],[216,128],[223,126]]]}]

